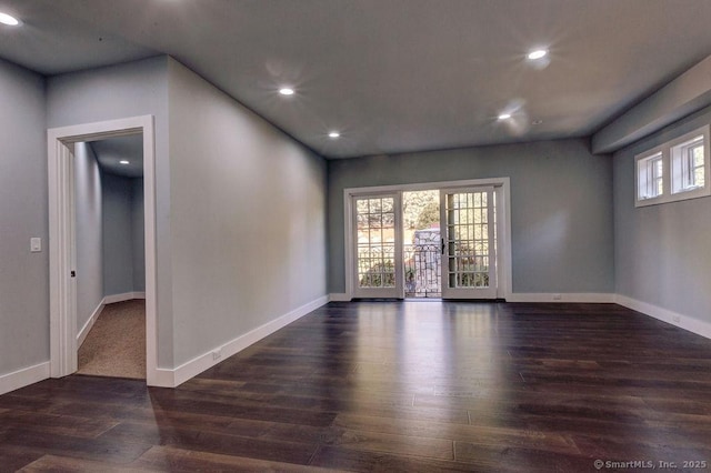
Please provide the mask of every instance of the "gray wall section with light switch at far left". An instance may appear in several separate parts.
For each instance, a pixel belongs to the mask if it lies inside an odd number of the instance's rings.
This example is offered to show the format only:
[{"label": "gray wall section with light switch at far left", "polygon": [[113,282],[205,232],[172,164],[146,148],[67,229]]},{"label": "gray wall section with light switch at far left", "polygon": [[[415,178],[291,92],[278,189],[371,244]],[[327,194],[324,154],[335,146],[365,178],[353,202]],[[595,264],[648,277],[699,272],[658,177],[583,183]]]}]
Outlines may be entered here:
[{"label": "gray wall section with light switch at far left", "polygon": [[0,90],[1,375],[49,360],[49,229],[44,80],[0,60]]}]

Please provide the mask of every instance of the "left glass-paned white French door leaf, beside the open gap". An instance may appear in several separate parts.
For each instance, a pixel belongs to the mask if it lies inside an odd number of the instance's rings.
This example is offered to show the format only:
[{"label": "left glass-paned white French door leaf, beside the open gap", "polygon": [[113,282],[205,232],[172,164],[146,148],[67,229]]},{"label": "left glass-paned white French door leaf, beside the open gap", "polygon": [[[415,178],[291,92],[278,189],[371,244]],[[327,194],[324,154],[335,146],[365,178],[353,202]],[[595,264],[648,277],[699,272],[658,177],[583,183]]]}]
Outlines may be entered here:
[{"label": "left glass-paned white French door leaf, beside the open gap", "polygon": [[400,193],[353,197],[356,298],[403,296]]}]

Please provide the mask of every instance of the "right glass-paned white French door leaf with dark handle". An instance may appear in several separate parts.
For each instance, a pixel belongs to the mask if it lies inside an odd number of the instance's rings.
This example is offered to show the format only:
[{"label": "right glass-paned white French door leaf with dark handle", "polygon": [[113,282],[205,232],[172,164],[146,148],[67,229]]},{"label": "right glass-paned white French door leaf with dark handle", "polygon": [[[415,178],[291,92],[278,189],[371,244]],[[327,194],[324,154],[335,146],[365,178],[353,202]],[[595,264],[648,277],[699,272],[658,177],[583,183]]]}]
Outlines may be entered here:
[{"label": "right glass-paned white French door leaf with dark handle", "polygon": [[440,191],[442,299],[497,298],[493,188]]}]

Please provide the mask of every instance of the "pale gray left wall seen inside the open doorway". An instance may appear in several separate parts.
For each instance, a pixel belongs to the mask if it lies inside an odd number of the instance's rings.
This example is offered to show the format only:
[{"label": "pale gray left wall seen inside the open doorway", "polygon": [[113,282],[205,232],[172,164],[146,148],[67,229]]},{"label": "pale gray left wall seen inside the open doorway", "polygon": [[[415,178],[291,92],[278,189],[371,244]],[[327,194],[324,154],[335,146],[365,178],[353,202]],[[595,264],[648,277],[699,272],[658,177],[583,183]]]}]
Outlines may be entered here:
[{"label": "pale gray left wall seen inside the open doorway", "polygon": [[77,238],[77,333],[103,299],[102,188],[99,163],[91,145],[74,145]]}]

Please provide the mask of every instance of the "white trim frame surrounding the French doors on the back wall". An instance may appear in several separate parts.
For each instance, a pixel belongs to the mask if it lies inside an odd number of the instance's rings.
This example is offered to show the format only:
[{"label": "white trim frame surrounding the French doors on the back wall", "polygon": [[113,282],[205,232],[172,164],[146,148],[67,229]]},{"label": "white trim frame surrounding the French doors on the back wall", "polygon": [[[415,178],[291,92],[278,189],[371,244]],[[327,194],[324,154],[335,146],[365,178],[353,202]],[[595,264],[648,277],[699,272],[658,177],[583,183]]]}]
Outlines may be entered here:
[{"label": "white trim frame surrounding the French doors on the back wall", "polygon": [[[513,288],[513,275],[511,272],[511,180],[509,178],[492,179],[470,179],[463,181],[423,182],[417,184],[378,185],[371,188],[348,188],[343,189],[343,224],[344,224],[344,248],[343,262],[346,270],[346,299],[351,300],[354,294],[356,278],[353,278],[353,209],[352,198],[369,193],[407,192],[441,190],[450,188],[470,188],[492,185],[497,193],[497,298],[511,298]],[[501,212],[501,213],[499,213]]]}]

